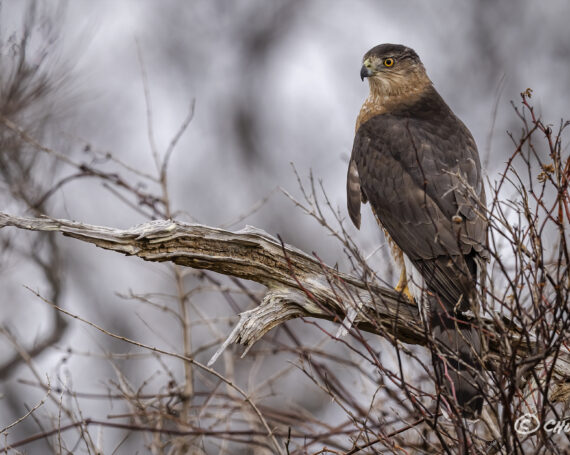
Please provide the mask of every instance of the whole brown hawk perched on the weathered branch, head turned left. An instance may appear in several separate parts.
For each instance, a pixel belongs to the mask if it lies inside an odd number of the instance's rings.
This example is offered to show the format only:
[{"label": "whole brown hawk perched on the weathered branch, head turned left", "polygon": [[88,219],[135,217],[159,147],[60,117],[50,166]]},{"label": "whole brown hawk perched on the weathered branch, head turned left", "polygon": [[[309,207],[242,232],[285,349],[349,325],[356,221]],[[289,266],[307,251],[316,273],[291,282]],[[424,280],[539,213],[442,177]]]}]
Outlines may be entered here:
[{"label": "whole brown hawk perched on the weathered branch, head turned left", "polygon": [[370,94],[356,120],[348,168],[350,217],[360,228],[360,204],[370,202],[402,267],[396,289],[422,305],[437,341],[439,384],[462,415],[477,415],[481,340],[465,313],[476,312],[487,222],[475,141],[413,49],[374,47],[360,76],[368,78]]}]

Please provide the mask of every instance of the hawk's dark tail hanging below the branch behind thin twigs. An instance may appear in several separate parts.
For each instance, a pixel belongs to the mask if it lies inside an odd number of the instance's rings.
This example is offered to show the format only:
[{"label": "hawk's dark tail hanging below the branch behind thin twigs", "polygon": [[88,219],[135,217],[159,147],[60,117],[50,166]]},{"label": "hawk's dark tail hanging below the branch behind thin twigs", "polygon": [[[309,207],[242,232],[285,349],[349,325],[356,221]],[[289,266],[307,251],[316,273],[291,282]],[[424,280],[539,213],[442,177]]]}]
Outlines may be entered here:
[{"label": "hawk's dark tail hanging below the branch behind thin twigs", "polygon": [[431,327],[437,343],[432,351],[433,365],[440,387],[455,397],[463,417],[477,418],[483,407],[484,385],[479,330],[461,315],[443,309],[432,310]]}]

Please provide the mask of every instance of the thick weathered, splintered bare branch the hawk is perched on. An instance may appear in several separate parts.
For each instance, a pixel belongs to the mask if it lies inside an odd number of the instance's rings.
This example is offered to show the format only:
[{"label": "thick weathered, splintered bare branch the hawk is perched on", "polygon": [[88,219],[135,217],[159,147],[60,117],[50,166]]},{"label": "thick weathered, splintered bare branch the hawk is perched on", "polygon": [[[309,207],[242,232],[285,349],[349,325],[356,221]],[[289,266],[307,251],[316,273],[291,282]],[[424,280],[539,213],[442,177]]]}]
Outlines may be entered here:
[{"label": "thick weathered, splintered bare branch the hawk is perched on", "polygon": [[[268,292],[262,305],[242,315],[249,322],[240,322],[243,329],[235,340],[245,345],[253,344],[288,319],[311,316],[333,320],[347,310],[359,313],[355,322],[363,330],[378,333],[375,325],[381,324],[403,342],[424,342],[417,308],[396,291],[340,273],[295,247],[282,246],[276,238],[251,226],[230,232],[159,220],[122,230],[0,213],[0,228],[6,226],[61,232],[145,261],[169,261],[263,284]],[[252,325],[252,321],[256,323]]]}]

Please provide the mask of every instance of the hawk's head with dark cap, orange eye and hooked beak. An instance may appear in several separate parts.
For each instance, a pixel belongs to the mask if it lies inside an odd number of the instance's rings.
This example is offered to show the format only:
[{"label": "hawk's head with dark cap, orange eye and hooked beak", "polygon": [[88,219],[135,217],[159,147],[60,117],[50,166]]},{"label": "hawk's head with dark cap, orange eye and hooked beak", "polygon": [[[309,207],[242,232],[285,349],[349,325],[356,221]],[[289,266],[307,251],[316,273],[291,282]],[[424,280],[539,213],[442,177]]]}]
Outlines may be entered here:
[{"label": "hawk's head with dark cap, orange eye and hooked beak", "polygon": [[421,91],[430,80],[418,54],[400,44],[380,44],[365,55],[360,77],[381,95],[405,95]]}]

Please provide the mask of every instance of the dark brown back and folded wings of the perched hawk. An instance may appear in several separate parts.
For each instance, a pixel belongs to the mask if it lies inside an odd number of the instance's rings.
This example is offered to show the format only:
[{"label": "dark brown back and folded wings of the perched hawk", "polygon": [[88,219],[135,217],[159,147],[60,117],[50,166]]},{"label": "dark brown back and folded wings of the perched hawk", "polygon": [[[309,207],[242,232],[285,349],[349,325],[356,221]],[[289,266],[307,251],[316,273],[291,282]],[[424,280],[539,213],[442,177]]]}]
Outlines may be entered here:
[{"label": "dark brown back and folded wings of the perched hawk", "polygon": [[357,180],[428,287],[454,305],[473,286],[476,256],[485,254],[486,221],[478,210],[485,195],[471,134],[434,94],[436,102],[432,97],[360,126],[349,165],[348,204],[354,221],[360,200],[351,179]]}]

